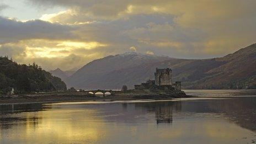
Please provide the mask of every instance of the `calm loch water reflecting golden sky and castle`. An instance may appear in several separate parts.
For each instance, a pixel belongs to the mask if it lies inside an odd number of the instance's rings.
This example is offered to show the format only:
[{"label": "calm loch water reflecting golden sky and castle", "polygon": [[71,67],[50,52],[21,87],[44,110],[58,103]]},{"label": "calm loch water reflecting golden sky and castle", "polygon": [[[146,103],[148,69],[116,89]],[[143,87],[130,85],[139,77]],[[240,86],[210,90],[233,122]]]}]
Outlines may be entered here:
[{"label": "calm loch water reflecting golden sky and castle", "polygon": [[186,93],[230,98],[1,105],[0,143],[256,143],[256,90]]}]

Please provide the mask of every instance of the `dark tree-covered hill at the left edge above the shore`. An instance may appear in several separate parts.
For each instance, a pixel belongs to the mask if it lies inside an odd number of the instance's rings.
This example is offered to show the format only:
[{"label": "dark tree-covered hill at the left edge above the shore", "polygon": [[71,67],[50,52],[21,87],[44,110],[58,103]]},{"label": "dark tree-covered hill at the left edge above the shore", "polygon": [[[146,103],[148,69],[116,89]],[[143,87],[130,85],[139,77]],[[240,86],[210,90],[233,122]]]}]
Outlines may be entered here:
[{"label": "dark tree-covered hill at the left edge above the shore", "polygon": [[17,94],[67,90],[60,78],[35,63],[19,65],[8,57],[0,57],[0,94],[7,94],[12,88]]}]

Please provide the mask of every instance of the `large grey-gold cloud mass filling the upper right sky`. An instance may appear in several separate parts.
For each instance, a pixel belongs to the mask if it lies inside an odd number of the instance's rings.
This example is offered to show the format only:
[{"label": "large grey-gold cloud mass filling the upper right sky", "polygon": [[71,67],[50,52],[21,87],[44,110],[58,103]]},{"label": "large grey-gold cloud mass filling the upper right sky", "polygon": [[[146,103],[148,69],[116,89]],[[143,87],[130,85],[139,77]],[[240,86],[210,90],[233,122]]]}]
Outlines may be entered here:
[{"label": "large grey-gold cloud mass filling the upper right sky", "polygon": [[[69,8],[66,13],[52,17],[51,22],[108,23],[114,25],[119,31],[129,31],[132,40],[144,42],[146,46],[168,49],[183,47],[185,53],[191,54],[192,52],[194,56],[199,53],[217,56],[233,52],[234,45],[230,45],[230,42],[218,44],[218,41],[214,41],[220,37],[225,37],[225,39],[230,37],[237,47],[255,42],[253,37],[256,31],[256,18],[254,17],[256,10],[253,6],[256,1],[30,1],[45,7],[58,5]],[[114,11],[109,10],[110,7]],[[151,22],[146,22],[145,19],[135,20],[134,18],[138,15],[148,15],[147,20],[150,19]],[[154,15],[165,22],[158,23],[158,20],[152,19]],[[126,23],[121,23],[121,21],[126,21]],[[133,28],[130,28],[132,24],[134,24]],[[240,35],[249,35],[250,38],[246,39]],[[212,47],[209,47],[209,43]],[[216,49],[214,45],[221,47],[217,47],[220,50],[211,55],[206,49]],[[184,52],[177,56],[182,55]],[[194,56],[184,55],[184,57]]]}]

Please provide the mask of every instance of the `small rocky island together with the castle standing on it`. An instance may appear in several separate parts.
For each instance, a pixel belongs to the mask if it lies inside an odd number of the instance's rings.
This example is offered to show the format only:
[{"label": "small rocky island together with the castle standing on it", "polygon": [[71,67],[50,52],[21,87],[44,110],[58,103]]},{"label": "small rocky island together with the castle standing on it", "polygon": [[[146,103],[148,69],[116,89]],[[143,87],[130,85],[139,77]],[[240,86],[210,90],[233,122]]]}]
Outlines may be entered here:
[{"label": "small rocky island together with the castle standing on it", "polygon": [[145,83],[137,84],[134,89],[127,90],[123,86],[122,91],[115,92],[118,95],[133,96],[134,98],[185,98],[191,97],[182,91],[182,83],[172,80],[172,69],[156,68],[154,80],[148,79]]}]

